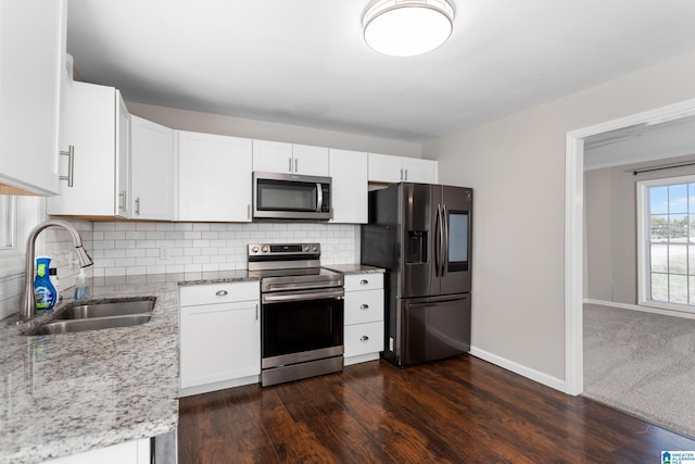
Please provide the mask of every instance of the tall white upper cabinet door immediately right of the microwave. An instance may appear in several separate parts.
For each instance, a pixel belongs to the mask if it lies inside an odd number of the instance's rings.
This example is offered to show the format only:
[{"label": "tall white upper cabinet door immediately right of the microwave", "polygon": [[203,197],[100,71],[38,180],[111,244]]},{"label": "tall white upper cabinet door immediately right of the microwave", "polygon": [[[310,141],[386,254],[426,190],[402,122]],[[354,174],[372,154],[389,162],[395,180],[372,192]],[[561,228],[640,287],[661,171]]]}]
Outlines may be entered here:
[{"label": "tall white upper cabinet door immediately right of the microwave", "polygon": [[330,149],[332,223],[366,224],[367,153]]}]

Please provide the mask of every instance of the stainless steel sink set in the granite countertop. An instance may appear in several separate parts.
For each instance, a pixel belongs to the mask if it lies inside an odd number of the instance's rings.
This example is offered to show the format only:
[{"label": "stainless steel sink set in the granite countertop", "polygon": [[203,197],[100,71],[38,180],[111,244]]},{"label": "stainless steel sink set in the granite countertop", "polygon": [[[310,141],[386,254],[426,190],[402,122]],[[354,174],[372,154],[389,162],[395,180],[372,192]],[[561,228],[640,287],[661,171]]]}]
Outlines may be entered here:
[{"label": "stainless steel sink set in the granite countertop", "polygon": [[68,334],[144,324],[152,318],[155,298],[128,298],[86,302],[60,311],[58,315],[26,335]]}]

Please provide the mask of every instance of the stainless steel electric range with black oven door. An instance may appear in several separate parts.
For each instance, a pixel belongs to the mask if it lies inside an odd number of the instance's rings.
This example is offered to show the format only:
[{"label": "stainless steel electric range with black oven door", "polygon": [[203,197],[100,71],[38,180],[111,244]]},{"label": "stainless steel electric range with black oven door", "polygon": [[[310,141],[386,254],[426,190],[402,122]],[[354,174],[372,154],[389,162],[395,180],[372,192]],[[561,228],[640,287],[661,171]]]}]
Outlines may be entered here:
[{"label": "stainless steel electric range with black oven door", "polygon": [[343,275],[320,267],[318,243],[249,244],[261,278],[261,385],[343,369]]}]

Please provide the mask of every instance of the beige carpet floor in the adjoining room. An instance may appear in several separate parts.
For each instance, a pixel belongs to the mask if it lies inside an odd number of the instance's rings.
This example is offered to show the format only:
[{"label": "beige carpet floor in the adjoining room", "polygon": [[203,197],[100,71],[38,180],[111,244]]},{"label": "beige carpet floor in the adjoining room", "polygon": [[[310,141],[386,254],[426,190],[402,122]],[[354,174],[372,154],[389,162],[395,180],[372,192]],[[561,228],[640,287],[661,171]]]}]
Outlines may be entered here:
[{"label": "beige carpet floor in the adjoining room", "polygon": [[695,319],[584,304],[583,396],[695,438]]}]

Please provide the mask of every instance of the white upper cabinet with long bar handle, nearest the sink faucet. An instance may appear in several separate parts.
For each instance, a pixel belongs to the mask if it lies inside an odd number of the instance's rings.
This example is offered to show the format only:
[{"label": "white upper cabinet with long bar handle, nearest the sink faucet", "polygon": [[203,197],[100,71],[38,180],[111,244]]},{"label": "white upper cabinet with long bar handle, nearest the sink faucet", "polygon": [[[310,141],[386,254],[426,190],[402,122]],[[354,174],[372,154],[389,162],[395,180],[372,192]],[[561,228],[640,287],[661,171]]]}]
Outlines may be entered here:
[{"label": "white upper cabinet with long bar handle, nearest the sink faucet", "polygon": [[[47,201],[55,215],[128,217],[129,118],[121,92],[66,83],[62,88],[60,195]],[[72,186],[71,186],[72,184]]]}]

